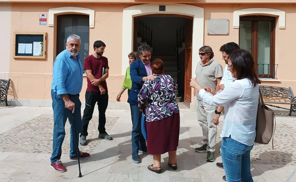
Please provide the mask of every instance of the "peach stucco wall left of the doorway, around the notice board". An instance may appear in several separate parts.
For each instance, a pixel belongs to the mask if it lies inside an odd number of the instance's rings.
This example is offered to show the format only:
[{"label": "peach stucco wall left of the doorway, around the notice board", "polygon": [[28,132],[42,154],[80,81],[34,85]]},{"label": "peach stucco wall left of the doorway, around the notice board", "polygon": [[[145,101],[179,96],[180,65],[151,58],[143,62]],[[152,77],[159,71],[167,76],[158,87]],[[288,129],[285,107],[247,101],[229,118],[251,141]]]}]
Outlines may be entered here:
[{"label": "peach stucco wall left of the doorway, around the notice board", "polygon": [[[45,60],[34,60],[14,59],[11,49],[9,69],[11,88],[9,89],[9,98],[51,99],[50,86],[52,65],[56,55],[56,29],[47,25],[40,26],[38,21],[39,14],[47,13],[48,16],[48,9],[64,6],[69,6],[69,4],[12,4],[12,35],[14,31],[47,32],[47,50]],[[73,6],[73,4],[70,4],[70,6]],[[121,76],[122,12],[129,5],[97,4],[94,6],[92,4],[76,4],[75,6],[94,9],[96,12],[95,28],[91,28],[89,32],[89,54],[93,53],[92,44],[95,40],[103,40],[107,45],[104,56],[108,58],[110,67],[110,76],[107,80],[109,100],[116,101],[116,96],[124,78],[124,76]],[[11,36],[11,42],[13,42],[13,36]],[[84,77],[81,100],[85,100],[86,85],[86,77]],[[122,97],[122,101],[126,100],[127,92]]]}]

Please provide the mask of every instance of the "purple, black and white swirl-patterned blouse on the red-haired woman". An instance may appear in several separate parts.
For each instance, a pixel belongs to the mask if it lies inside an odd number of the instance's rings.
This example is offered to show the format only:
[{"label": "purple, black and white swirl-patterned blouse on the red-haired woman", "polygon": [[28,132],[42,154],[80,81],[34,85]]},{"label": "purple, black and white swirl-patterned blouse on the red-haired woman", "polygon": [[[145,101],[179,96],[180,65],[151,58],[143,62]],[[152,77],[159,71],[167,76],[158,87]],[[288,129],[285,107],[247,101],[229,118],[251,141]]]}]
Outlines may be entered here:
[{"label": "purple, black and white swirl-patterned blouse on the red-haired woman", "polygon": [[146,79],[138,94],[139,109],[143,109],[146,101],[149,102],[145,110],[146,121],[158,121],[179,112],[176,101],[177,84],[170,75],[156,75],[155,80]]}]

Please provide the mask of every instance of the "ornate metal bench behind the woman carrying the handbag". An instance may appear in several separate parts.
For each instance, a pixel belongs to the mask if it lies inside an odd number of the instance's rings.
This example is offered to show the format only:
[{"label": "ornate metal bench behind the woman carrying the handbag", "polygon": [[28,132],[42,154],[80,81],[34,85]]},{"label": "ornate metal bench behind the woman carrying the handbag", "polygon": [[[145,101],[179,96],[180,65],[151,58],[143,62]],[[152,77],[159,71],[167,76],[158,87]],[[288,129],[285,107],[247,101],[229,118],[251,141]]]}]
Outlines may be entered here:
[{"label": "ornate metal bench behind the woman carrying the handbag", "polygon": [[293,96],[293,92],[291,87],[284,88],[284,87],[274,87],[274,86],[259,86],[259,89],[262,93],[262,96],[266,101],[264,101],[265,105],[281,108],[281,109],[287,109],[284,107],[279,107],[271,104],[289,104],[290,113],[289,116],[291,116],[292,112],[296,112],[296,97]]}]

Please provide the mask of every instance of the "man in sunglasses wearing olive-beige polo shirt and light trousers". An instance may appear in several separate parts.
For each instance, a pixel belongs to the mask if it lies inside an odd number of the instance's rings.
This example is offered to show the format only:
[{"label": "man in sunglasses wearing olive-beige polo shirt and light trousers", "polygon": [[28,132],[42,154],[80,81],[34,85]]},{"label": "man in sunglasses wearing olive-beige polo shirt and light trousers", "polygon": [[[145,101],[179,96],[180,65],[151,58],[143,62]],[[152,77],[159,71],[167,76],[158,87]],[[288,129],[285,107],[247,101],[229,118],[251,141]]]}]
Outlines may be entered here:
[{"label": "man in sunglasses wearing olive-beige polo shirt and light trousers", "polygon": [[[199,50],[200,62],[196,66],[195,80],[202,87],[216,88],[219,90],[219,83],[223,76],[222,66],[213,60],[214,53],[210,46],[202,46]],[[209,106],[202,102],[202,99],[194,90],[197,119],[202,127],[202,139],[204,145],[195,148],[196,152],[207,152],[207,161],[214,162],[214,145],[217,134],[217,125],[213,122],[216,107]]]}]

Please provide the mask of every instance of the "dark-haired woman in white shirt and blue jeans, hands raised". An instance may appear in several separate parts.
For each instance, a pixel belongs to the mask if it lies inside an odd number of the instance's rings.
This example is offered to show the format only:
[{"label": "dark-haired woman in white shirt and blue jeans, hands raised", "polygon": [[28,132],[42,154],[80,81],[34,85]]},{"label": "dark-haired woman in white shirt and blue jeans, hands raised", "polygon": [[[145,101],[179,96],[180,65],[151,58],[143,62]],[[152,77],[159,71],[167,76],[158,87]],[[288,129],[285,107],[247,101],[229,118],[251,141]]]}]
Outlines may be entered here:
[{"label": "dark-haired woman in white shirt and blue jeans, hands raised", "polygon": [[247,50],[236,50],[228,59],[228,70],[237,80],[223,91],[217,94],[212,88],[201,88],[194,79],[191,79],[190,86],[198,91],[206,104],[226,106],[221,156],[227,181],[253,182],[250,151],[256,136],[260,80],[255,73],[252,55]]}]

